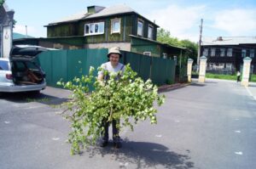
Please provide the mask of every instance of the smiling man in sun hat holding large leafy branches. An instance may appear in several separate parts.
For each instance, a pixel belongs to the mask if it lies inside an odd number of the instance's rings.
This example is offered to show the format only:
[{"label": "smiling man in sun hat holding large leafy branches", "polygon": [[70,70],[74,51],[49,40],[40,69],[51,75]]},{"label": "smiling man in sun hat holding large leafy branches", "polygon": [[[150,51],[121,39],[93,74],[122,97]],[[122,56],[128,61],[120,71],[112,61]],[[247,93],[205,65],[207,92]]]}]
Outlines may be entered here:
[{"label": "smiling man in sun hat holding large leafy branches", "polygon": [[[108,70],[108,75],[104,76],[103,71],[98,72],[98,80],[99,81],[108,81],[109,75],[112,73],[118,73],[121,71],[122,73],[125,70],[125,65],[119,63],[119,59],[122,57],[122,54],[119,51],[118,47],[113,47],[108,50],[108,59],[109,62],[102,64],[102,69]],[[117,79],[118,80],[118,79]],[[117,128],[117,124],[119,121],[112,121],[113,128],[113,145],[115,148],[121,148],[120,138],[119,138],[119,129]],[[102,121],[102,126],[104,127],[104,132],[102,133],[102,143],[101,147],[106,147],[108,145],[108,127],[109,122],[108,119],[104,119]]]}]

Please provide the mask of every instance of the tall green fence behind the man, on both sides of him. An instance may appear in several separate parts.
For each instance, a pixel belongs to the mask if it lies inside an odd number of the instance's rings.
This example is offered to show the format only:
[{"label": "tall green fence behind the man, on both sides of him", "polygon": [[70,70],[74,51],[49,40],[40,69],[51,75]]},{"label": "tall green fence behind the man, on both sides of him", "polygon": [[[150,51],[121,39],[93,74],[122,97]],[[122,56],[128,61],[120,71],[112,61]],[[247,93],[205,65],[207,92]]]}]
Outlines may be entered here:
[{"label": "tall green fence behind the man, on both sides of him", "polygon": [[[46,74],[47,84],[57,87],[56,82],[72,81],[74,77],[88,75],[90,66],[95,68],[107,62],[108,49],[75,49],[47,51],[38,56],[42,69]],[[143,80],[150,78],[154,84],[173,83],[175,79],[175,62],[122,51],[120,62],[130,64]],[[95,72],[96,76],[96,72]]]}]

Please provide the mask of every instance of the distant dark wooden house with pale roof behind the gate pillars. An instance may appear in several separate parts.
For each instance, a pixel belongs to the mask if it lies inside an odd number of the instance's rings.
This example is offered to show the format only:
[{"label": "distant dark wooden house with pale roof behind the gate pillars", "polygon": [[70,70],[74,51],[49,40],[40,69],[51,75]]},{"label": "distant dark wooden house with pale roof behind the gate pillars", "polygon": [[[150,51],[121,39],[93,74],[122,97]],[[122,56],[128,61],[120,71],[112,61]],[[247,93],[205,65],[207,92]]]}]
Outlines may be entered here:
[{"label": "distant dark wooden house with pale roof behind the gate pillars", "polygon": [[207,70],[241,70],[242,59],[252,58],[251,71],[256,72],[256,37],[218,37],[203,38],[201,54],[206,56]]}]

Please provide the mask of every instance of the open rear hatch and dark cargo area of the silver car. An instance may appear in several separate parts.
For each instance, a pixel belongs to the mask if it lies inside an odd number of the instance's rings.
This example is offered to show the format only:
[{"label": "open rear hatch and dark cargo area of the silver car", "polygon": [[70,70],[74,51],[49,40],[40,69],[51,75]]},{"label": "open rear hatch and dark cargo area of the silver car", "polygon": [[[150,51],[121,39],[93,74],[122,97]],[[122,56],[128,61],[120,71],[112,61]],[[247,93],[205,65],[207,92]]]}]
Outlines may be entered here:
[{"label": "open rear hatch and dark cargo area of the silver car", "polygon": [[49,50],[39,46],[17,45],[10,52],[12,74],[16,85],[35,85],[44,82],[44,71],[35,61],[38,54]]}]

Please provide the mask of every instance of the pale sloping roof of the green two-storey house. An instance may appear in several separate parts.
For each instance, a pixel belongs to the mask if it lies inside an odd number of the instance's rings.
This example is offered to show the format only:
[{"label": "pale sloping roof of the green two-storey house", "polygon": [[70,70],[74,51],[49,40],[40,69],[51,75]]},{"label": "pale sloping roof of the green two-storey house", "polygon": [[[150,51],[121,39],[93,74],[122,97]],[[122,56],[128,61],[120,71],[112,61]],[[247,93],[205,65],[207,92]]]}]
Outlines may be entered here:
[{"label": "pale sloping roof of the green two-storey house", "polygon": [[[138,14],[134,9],[128,7],[127,5],[119,4],[119,5],[114,5],[114,6],[110,6],[107,8],[102,8],[102,10],[99,10],[95,14],[88,14],[87,11],[82,11],[82,12],[79,12],[78,14],[73,14],[73,15],[67,16],[65,18],[62,18],[61,20],[56,20],[54,22],[51,22],[51,23],[49,23],[49,25],[56,25],[56,24],[61,24],[61,23],[65,23],[65,22],[73,22],[73,21],[77,21],[77,20],[100,18],[100,17],[106,17],[106,16],[115,15],[115,14],[129,14],[129,13]],[[138,15],[140,15],[140,14],[138,14]],[[142,15],[140,15],[140,16],[142,16]],[[143,17],[143,18],[146,19],[145,17]],[[148,20],[148,19],[146,19],[146,20]],[[150,21],[150,20],[148,20],[148,21]],[[150,21],[150,22],[152,22],[152,21]],[[152,23],[154,24],[154,22],[152,22]]]}]

